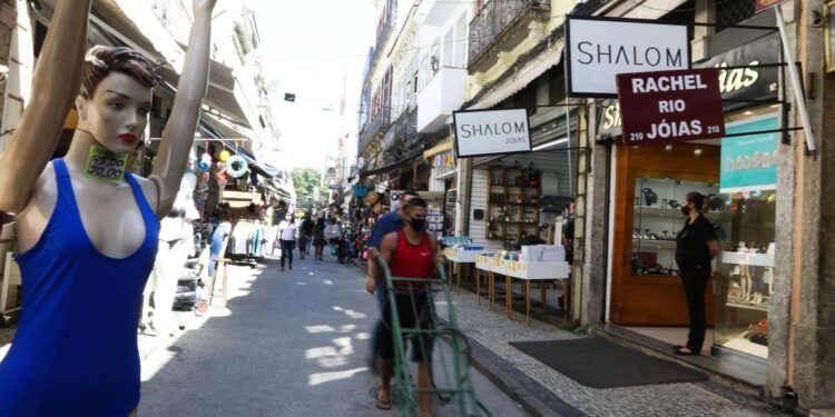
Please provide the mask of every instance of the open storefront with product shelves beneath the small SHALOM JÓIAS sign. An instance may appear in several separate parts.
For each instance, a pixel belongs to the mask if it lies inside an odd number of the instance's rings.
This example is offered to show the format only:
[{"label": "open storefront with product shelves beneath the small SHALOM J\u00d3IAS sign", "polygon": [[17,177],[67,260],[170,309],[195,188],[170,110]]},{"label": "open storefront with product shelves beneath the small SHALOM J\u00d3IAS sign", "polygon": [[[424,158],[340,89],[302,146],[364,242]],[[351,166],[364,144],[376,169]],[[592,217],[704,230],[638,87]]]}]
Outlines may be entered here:
[{"label": "open storefront with product shelves beneath the small SHALOM J\u00d3IAS sign", "polygon": [[578,112],[564,107],[529,117],[532,150],[472,159],[468,237],[485,248],[560,242],[562,221],[573,201]]}]

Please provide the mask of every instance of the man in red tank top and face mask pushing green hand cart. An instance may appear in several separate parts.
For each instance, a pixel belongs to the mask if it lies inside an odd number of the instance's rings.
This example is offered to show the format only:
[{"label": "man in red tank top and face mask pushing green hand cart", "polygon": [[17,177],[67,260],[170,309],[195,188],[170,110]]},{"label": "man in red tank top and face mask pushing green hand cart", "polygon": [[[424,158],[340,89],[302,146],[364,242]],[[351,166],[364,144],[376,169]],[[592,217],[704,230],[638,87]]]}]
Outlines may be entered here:
[{"label": "man in red tank top and face mask pushing green hand cart", "polygon": [[[436,255],[438,241],[426,232],[426,201],[413,197],[403,209],[404,227],[400,231],[385,235],[380,245],[380,256],[389,265],[393,277],[399,278],[431,278],[439,275]],[[365,282],[365,290],[374,294],[376,281],[370,277]],[[434,327],[430,309],[430,286],[426,282],[393,284],[394,302],[397,319],[402,328],[431,330]],[[380,393],[376,406],[382,409],[391,408],[391,378],[394,373],[394,335],[392,332],[393,311],[386,297],[383,302],[383,331],[380,335]],[[431,363],[433,340],[430,336],[412,335],[412,361],[418,364],[418,388],[428,390],[432,387]],[[432,411],[432,394],[420,394],[421,415],[434,416]]]}]

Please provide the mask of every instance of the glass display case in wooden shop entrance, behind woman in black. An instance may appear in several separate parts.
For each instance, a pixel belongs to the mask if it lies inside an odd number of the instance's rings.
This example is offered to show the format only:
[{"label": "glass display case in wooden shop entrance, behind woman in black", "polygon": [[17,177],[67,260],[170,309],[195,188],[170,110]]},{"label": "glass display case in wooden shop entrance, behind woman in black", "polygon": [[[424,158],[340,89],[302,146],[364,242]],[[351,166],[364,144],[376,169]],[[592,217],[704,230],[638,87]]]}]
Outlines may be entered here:
[{"label": "glass display case in wooden shop entrance, behind woman in black", "polygon": [[686,221],[681,214],[681,201],[692,191],[708,196],[711,210],[706,217],[719,226],[721,234],[727,211],[717,183],[675,178],[636,178],[632,275],[669,277],[678,274],[676,235]]}]

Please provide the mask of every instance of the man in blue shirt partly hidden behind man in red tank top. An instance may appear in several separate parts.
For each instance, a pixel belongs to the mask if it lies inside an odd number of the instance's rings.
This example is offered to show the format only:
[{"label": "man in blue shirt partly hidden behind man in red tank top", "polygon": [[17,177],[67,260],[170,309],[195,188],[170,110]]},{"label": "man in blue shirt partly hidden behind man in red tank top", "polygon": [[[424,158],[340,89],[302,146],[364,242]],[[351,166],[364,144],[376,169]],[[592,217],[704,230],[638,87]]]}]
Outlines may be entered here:
[{"label": "man in blue shirt partly hidden behind man in red tank top", "polygon": [[[377,221],[374,224],[374,228],[371,230],[371,236],[365,244],[369,254],[366,281],[374,280],[376,282],[374,295],[376,296],[377,305],[381,310],[383,308],[383,301],[385,300],[385,282],[384,280],[379,279],[381,276],[381,270],[376,264],[376,258],[380,255],[380,244],[383,241],[383,237],[385,237],[386,235],[403,230],[403,218],[405,217],[403,209],[405,205],[414,197],[420,196],[413,190],[405,191],[402,195],[392,196],[392,200],[396,201],[397,209],[377,219]],[[372,370],[377,369],[380,335],[382,332],[383,320],[381,318],[374,325],[374,329],[372,330],[371,350],[367,358],[369,368],[371,368]]]}]

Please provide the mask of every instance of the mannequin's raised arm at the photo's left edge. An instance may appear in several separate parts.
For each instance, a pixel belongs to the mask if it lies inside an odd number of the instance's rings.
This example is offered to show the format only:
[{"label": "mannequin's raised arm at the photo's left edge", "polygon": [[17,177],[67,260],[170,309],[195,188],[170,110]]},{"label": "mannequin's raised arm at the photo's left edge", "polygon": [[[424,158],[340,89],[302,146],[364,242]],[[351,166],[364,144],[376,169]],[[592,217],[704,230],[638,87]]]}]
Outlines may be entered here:
[{"label": "mannequin's raised arm at the photo's left edge", "polygon": [[26,208],[58,146],[81,86],[91,1],[57,2],[35,70],[31,100],[0,153],[0,211],[17,214]]}]

